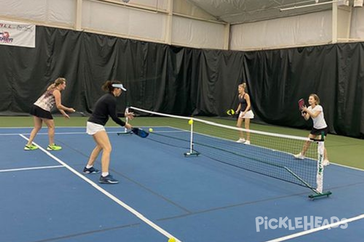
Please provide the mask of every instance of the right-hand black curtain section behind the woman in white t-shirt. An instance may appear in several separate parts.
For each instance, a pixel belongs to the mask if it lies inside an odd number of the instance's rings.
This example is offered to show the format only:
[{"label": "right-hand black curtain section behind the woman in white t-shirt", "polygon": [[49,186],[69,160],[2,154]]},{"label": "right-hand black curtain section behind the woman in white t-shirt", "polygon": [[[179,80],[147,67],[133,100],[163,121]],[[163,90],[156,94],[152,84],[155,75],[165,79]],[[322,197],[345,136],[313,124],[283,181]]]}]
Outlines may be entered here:
[{"label": "right-hand black curtain section behind the woman in white t-shirt", "polygon": [[297,100],[316,93],[333,134],[364,138],[364,45],[336,44],[246,52],[254,112],[264,122],[308,128]]}]

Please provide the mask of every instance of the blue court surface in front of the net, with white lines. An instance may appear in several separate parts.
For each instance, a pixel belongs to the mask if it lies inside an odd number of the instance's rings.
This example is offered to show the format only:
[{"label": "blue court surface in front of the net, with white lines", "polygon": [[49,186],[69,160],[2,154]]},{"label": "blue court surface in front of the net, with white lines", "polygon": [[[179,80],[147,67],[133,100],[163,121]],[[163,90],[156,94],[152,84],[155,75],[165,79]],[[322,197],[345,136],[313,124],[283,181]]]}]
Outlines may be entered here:
[{"label": "blue court surface in front of the net, with white lines", "polygon": [[[61,151],[24,151],[31,128],[0,130],[0,242],[362,241],[364,171],[331,164],[324,190],[310,189],[212,160],[186,148],[120,135],[110,173],[99,184],[82,169],[95,147],[84,127],[56,128]],[[154,130],[157,132],[158,128]],[[95,163],[100,169],[100,157]]]}]

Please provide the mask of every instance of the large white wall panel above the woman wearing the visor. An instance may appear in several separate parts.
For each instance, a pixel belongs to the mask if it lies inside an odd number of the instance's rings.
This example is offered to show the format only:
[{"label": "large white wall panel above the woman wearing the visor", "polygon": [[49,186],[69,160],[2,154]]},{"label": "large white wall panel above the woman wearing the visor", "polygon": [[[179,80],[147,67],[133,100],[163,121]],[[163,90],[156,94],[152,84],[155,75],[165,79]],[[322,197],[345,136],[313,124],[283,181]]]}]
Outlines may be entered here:
[{"label": "large white wall panel above the woman wearing the visor", "polygon": [[119,5],[83,1],[82,28],[163,41],[167,16]]}]

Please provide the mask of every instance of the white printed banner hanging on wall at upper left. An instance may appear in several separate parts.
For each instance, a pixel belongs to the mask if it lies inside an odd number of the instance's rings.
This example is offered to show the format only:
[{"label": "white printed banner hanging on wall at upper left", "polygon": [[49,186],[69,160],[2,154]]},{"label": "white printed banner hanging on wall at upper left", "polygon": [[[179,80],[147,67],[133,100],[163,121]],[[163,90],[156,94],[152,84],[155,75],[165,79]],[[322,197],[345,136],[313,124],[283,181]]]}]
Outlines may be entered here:
[{"label": "white printed banner hanging on wall at upper left", "polygon": [[0,19],[0,45],[35,48],[35,25]]}]

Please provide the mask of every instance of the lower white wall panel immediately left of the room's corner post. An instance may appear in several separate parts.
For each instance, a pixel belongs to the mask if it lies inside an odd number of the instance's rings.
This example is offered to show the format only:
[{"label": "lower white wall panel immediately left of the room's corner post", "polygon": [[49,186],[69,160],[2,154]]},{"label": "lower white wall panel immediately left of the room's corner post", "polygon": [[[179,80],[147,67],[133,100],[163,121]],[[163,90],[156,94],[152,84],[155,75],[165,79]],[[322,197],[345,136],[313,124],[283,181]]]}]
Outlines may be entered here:
[{"label": "lower white wall panel immediately left of the room's corner post", "polygon": [[172,44],[223,49],[224,25],[173,16]]}]

